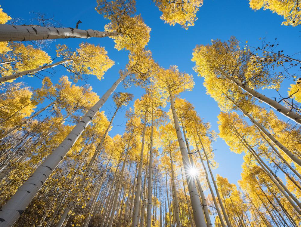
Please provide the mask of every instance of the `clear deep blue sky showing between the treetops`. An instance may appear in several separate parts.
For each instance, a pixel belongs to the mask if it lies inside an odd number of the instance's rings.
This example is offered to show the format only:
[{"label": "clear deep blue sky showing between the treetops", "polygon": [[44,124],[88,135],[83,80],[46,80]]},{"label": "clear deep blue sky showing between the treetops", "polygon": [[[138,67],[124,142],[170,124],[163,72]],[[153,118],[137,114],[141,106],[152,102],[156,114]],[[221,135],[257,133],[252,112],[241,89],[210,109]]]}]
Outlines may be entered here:
[{"label": "clear deep blue sky showing between the treetops", "polygon": [[[181,94],[193,103],[196,111],[205,122],[209,121],[212,129],[218,132],[217,115],[220,110],[216,102],[208,95],[203,87],[203,78],[197,76],[192,69],[194,63],[191,61],[193,48],[197,44],[209,44],[212,39],[227,40],[235,36],[240,41],[252,46],[261,46],[260,37],[267,37],[267,40],[275,41],[277,38],[279,45],[285,51],[285,54],[294,54],[300,49],[301,29],[299,27],[281,26],[283,18],[271,11],[253,11],[249,7],[247,0],[204,0],[203,6],[197,13],[198,20],[193,27],[188,30],[179,25],[169,26],[160,19],[161,12],[157,9],[151,0],[136,0],[136,14],[141,14],[144,22],[151,27],[151,39],[148,43],[153,53],[153,58],[162,67],[168,68],[170,65],[177,65],[180,71],[185,71],[194,76],[195,87],[193,91]],[[13,18],[22,18],[21,24],[30,24],[33,13],[40,12],[46,14],[46,17],[53,17],[60,22],[62,26],[75,27],[76,22],[81,20],[79,29],[97,29],[104,30],[104,25],[108,23],[102,15],[95,10],[96,0],[52,0],[52,1],[1,1],[3,11]],[[92,85],[93,91],[99,96],[104,94],[111,84],[119,77],[118,71],[124,69],[128,58],[127,51],[117,51],[114,49],[114,42],[111,38],[90,38],[83,39],[57,39],[47,52],[51,57],[55,57],[55,45],[66,44],[70,48],[77,48],[82,42],[100,44],[108,51],[109,57],[115,61],[115,65],[106,72],[104,79],[98,81],[95,76],[91,76],[88,83]],[[61,66],[55,68],[52,75],[48,71],[43,72],[43,76],[51,76],[53,83],[61,75],[69,75]],[[25,82],[33,88],[41,87],[41,79],[32,77],[19,78],[18,81]],[[79,82],[80,84],[80,82]],[[289,83],[284,83],[281,88],[284,96],[287,94]],[[116,92],[124,91],[122,86],[116,89]],[[135,95],[134,99],[140,98],[143,90],[137,87],[131,87],[126,90]],[[267,93],[265,93],[267,94]],[[271,95],[272,96],[272,93]],[[104,105],[103,110],[110,117],[112,99],[110,98]],[[130,104],[130,106],[133,102]],[[125,128],[125,111],[120,112],[114,120],[115,126],[110,131],[110,136],[116,133],[122,134]],[[281,117],[281,116],[280,116]],[[283,119],[283,118],[282,118]],[[227,177],[231,183],[237,184],[240,179],[241,164],[243,155],[231,152],[222,139],[217,139],[213,144],[215,150],[215,160],[219,167],[214,173],[219,173]]]}]

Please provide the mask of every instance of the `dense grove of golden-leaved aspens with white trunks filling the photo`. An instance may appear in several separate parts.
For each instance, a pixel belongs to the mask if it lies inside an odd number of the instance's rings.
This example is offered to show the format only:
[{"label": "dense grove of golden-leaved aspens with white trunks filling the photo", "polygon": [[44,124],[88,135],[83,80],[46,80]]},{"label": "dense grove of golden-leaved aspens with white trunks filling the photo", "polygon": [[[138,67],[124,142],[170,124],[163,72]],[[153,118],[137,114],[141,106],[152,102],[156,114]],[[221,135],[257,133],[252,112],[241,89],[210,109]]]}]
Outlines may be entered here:
[{"label": "dense grove of golden-leaved aspens with white trunks filling the photo", "polygon": [[[203,4],[152,2],[165,23],[184,29]],[[235,37],[197,45],[194,71],[221,110],[216,132],[182,94],[197,83],[193,76],[163,68],[146,48],[151,28],[135,0],[97,3],[105,31],[66,28],[66,37],[62,28],[11,25],[0,8],[0,226],[301,226],[301,60],[266,40],[258,48]],[[283,16],[283,25],[301,23],[298,1],[249,3]],[[102,80],[115,64],[105,47],[85,40],[71,49],[61,39],[87,34],[129,51],[102,94],[79,82]],[[47,38],[57,40],[57,56],[25,42]],[[39,78],[56,66],[66,69],[57,83]],[[42,86],[21,82],[25,76]],[[265,95],[284,80],[293,81],[287,94]],[[114,92],[122,84],[128,92]],[[132,86],[144,94],[134,97]],[[101,109],[109,97],[110,118]],[[117,115],[126,127],[110,137]],[[213,174],[217,138],[244,154],[238,186]]]}]

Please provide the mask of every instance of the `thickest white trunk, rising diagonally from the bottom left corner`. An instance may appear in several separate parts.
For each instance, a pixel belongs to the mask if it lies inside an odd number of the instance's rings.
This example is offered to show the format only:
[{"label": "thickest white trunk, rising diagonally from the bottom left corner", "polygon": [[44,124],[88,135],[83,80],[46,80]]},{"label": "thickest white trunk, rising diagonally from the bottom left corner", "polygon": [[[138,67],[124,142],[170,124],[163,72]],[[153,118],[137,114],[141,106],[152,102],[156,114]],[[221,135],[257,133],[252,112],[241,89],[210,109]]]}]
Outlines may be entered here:
[{"label": "thickest white trunk, rising diagonally from the bottom left corner", "polygon": [[122,75],[101,97],[100,100],[89,110],[81,121],[71,130],[63,142],[49,155],[42,164],[33,172],[33,175],[26,180],[17,192],[4,204],[0,211],[1,226],[11,226],[21,216],[23,211],[29,205],[30,201],[36,196],[50,174],[61,163],[65,155],[71,149],[73,144],[80,137],[85,128],[90,124],[96,113],[107,101],[118,84],[126,77]]}]

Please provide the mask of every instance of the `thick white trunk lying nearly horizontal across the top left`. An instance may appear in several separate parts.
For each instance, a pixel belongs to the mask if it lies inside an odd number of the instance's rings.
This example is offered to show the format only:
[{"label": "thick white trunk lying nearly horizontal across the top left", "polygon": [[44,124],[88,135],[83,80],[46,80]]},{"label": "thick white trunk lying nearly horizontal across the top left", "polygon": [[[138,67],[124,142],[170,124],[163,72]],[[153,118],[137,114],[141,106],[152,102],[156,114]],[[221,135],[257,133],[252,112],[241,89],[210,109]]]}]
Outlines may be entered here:
[{"label": "thick white trunk lying nearly horizontal across the top left", "polygon": [[41,26],[20,26],[0,24],[0,41],[28,41],[57,38],[103,38],[116,36],[117,32],[101,32],[98,30],[82,30],[77,28],[54,28]]}]

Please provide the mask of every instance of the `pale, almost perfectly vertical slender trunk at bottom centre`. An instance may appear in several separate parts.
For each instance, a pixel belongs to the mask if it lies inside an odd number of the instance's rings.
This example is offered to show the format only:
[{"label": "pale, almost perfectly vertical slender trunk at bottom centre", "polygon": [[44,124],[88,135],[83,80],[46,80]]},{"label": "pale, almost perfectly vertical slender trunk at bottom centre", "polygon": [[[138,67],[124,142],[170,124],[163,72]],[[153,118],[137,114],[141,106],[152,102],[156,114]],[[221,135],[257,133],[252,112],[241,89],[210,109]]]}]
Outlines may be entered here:
[{"label": "pale, almost perfectly vertical slender trunk at bottom centre", "polygon": [[151,203],[153,189],[153,135],[154,135],[154,108],[151,115],[151,143],[148,167],[148,184],[147,184],[147,212],[146,212],[146,227],[151,227]]}]

